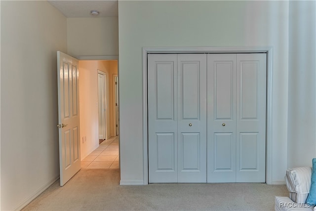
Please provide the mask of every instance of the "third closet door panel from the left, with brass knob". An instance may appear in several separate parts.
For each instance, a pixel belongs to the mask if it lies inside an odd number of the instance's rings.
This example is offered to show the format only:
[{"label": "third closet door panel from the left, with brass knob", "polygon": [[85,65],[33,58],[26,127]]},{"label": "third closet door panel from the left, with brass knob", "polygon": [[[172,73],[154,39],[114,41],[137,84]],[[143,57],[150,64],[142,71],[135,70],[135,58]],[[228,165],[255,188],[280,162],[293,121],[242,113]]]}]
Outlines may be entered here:
[{"label": "third closet door panel from the left, with brass knob", "polygon": [[207,182],[236,181],[236,54],[207,56]]}]

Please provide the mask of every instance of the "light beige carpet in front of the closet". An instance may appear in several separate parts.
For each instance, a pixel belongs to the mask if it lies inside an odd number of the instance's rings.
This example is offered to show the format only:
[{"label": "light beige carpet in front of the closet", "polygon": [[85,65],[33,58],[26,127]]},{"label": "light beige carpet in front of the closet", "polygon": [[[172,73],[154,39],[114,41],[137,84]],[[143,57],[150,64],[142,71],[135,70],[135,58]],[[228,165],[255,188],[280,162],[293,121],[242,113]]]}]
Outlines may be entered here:
[{"label": "light beige carpet in front of the closet", "polygon": [[262,183],[119,186],[119,169],[81,169],[63,187],[59,180],[23,210],[273,211],[285,185]]}]

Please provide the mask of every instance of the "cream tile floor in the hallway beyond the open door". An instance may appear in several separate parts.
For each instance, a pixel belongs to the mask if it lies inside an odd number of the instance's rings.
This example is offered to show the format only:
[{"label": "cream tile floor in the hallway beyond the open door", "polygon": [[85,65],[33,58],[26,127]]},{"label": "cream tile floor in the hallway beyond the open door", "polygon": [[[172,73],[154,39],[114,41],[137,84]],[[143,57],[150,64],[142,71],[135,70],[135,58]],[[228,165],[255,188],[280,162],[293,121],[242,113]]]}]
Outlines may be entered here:
[{"label": "cream tile floor in the hallway beyond the open door", "polygon": [[118,136],[104,140],[81,161],[82,169],[118,169]]}]

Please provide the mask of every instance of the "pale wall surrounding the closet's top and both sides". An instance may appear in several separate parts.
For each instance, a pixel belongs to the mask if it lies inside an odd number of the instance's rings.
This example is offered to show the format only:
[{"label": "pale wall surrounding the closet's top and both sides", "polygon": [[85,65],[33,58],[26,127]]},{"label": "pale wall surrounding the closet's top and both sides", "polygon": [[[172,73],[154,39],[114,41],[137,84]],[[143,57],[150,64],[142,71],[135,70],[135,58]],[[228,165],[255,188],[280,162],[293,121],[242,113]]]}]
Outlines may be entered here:
[{"label": "pale wall surrounding the closet's top and both sides", "polygon": [[288,1],[119,1],[121,182],[143,181],[142,47],[267,46],[273,61],[272,182],[287,167]]}]

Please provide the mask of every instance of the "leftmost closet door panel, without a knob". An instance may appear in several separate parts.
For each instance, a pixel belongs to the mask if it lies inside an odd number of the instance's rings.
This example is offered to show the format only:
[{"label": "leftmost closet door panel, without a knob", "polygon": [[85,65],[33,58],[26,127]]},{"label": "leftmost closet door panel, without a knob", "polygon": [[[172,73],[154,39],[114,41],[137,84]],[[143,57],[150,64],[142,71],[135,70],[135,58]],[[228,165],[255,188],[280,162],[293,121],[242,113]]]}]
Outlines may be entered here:
[{"label": "leftmost closet door panel, without a knob", "polygon": [[177,54],[148,55],[149,182],[177,182]]}]

